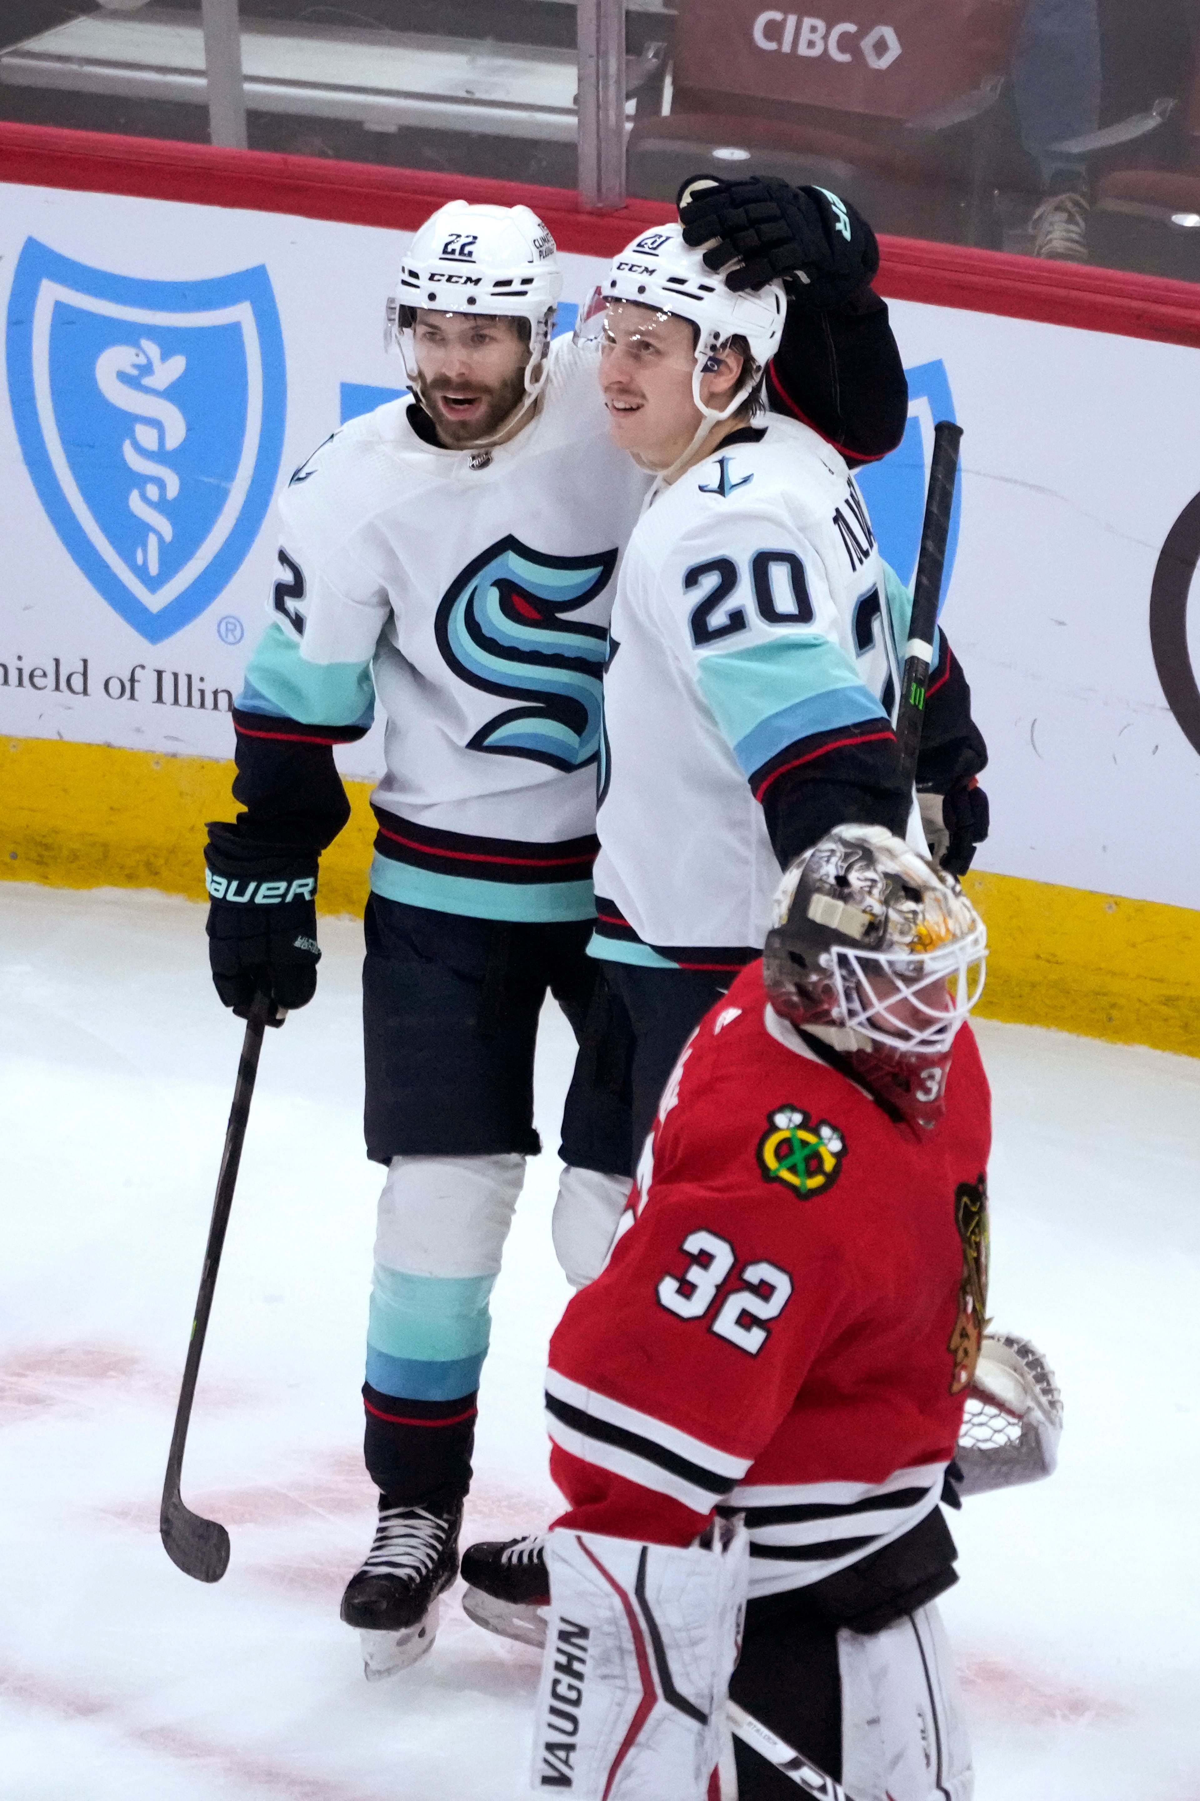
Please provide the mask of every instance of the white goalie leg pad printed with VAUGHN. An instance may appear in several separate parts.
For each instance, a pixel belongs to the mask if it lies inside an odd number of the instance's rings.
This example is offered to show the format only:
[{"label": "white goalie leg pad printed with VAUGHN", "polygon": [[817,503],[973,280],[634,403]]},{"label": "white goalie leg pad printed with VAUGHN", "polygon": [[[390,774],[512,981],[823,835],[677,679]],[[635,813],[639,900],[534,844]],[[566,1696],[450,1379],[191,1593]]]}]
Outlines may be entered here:
[{"label": "white goalie leg pad printed with VAUGHN", "polygon": [[720,1522],[711,1549],[687,1551],[558,1529],[547,1567],[533,1788],[579,1801],[707,1801],[727,1760],[745,1529]]}]

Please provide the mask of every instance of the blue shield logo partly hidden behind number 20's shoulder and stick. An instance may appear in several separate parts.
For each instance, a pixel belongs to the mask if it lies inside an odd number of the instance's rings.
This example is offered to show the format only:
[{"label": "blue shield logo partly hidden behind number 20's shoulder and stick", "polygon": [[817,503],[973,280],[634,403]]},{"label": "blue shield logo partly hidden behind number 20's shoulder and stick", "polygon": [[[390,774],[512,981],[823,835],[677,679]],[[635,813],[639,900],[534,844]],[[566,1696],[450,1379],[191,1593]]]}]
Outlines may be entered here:
[{"label": "blue shield logo partly hidden behind number 20's shoulder and stick", "polygon": [[[934,425],[954,420],[954,394],[945,362],[923,362],[905,369],[909,376],[909,425],[905,436],[880,463],[855,470],[855,481],[871,513],[871,526],[880,544],[880,555],[892,566],[901,582],[912,587],[921,549],[925,522],[925,486],[934,456]],[[950,537],[941,582],[941,605],[950,593],[954,557],[959,548],[959,511],[963,504],[963,472],[954,488]]]}]

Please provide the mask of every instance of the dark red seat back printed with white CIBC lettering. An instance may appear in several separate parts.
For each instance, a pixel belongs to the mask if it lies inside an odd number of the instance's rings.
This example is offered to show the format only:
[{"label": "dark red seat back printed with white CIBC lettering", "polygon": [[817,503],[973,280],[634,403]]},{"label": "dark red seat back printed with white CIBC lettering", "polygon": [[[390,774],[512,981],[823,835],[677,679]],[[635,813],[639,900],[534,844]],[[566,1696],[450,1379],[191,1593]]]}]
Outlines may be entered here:
[{"label": "dark red seat back printed with white CIBC lettering", "polygon": [[817,14],[763,0],[680,0],[676,92],[919,119],[1004,74],[1024,0],[865,5],[869,13]]}]

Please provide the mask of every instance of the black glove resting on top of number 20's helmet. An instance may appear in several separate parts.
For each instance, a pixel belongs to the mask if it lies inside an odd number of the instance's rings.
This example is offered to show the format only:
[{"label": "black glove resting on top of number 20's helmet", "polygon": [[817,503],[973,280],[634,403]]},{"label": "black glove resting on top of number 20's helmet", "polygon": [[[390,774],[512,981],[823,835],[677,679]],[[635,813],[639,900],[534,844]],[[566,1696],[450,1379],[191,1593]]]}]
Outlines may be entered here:
[{"label": "black glove resting on top of number 20's helmet", "polygon": [[684,243],[711,245],[703,252],[709,268],[741,258],[743,267],[725,277],[732,294],[783,276],[792,303],[840,306],[880,267],[865,218],[824,187],[792,187],[775,175],[748,182],[693,175],[680,187],[678,209]]}]

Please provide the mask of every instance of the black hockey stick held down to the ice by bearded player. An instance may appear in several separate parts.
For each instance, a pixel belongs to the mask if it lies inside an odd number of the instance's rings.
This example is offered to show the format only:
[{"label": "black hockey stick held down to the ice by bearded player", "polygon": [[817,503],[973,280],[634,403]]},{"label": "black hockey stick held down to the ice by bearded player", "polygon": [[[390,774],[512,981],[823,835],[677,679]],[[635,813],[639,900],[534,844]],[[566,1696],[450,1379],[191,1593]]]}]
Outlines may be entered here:
[{"label": "black hockey stick held down to the ice by bearded player", "polygon": [[[272,1010],[273,1007],[270,996],[259,991],[254,996],[250,1018],[246,1019],[246,1036],[241,1043],[241,1063],[237,1064],[234,1104],[228,1109],[228,1126],[225,1127],[225,1153],[221,1156],[221,1174],[216,1180],[216,1199],[212,1201],[212,1223],[209,1225],[209,1243],[205,1244],[203,1270],[200,1273],[196,1315],[193,1318],[193,1335],[187,1344],[184,1387],[180,1389],[180,1405],[175,1410],[175,1432],[171,1434],[167,1475],[162,1484],[158,1534],[171,1561],[176,1563],[185,1576],[194,1576],[196,1581],[219,1581],[228,1569],[228,1533],[223,1525],[218,1525],[216,1520],[205,1520],[184,1506],[180,1497],[180,1475],[184,1470],[184,1446],[187,1444],[187,1425],[193,1414],[196,1378],[200,1374],[200,1356],[203,1353],[203,1338],[209,1329],[212,1291],[216,1290],[216,1272],[221,1266],[221,1246],[225,1244],[228,1212],[234,1205],[234,1185],[237,1181],[241,1145],[246,1136],[246,1120],[250,1118],[250,1097],[254,1095],[254,1077],[257,1075],[259,1052],[263,1050],[263,1028],[266,1027]],[[277,1021],[272,1019],[272,1023]]]}]

